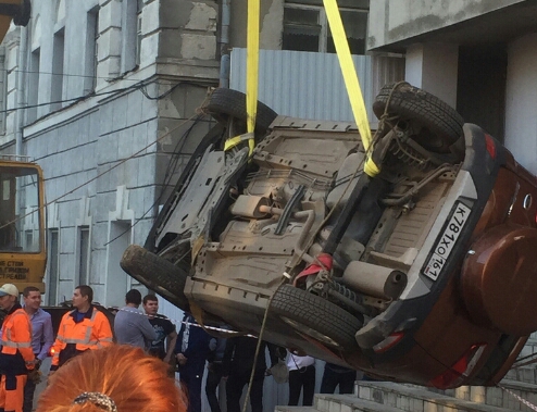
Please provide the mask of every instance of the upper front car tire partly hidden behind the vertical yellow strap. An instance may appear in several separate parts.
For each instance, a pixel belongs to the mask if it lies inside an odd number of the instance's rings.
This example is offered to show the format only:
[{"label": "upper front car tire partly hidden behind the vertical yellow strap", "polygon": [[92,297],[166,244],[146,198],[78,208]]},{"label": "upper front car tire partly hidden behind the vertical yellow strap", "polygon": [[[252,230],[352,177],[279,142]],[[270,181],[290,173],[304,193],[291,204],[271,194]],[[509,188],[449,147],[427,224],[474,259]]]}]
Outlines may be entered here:
[{"label": "upper front car tire partly hidden behind the vertical yellow strap", "polygon": [[[246,108],[246,95],[243,92],[218,87],[212,92],[205,109],[209,114],[224,125],[227,125],[229,117],[235,117],[241,122],[245,122],[246,127],[248,114]],[[278,114],[274,110],[258,101],[255,133],[264,135],[277,115]]]}]

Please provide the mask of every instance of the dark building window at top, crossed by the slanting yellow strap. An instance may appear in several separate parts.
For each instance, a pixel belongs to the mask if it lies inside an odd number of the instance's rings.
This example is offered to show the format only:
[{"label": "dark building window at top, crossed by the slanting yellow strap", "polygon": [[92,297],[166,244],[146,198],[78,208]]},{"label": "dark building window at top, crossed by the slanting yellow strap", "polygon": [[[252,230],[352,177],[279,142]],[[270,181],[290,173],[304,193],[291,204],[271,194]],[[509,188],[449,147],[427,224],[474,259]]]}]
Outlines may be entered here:
[{"label": "dark building window at top, crossed by the slanting yellow strap", "polygon": [[[365,53],[367,10],[340,8],[341,20],[352,54]],[[323,7],[288,3],[284,8],[283,50],[335,53]]]}]

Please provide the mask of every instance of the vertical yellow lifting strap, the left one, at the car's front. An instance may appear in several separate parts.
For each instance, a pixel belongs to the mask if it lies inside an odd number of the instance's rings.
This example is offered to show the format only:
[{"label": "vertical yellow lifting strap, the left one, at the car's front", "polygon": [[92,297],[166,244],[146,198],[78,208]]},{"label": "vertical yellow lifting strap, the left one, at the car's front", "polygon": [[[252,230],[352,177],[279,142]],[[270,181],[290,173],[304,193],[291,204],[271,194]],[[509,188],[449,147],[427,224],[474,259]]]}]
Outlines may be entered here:
[{"label": "vertical yellow lifting strap, the left one, at the car's front", "polygon": [[246,50],[246,112],[249,154],[253,152],[259,87],[259,20],[260,0],[248,0],[248,40]]}]

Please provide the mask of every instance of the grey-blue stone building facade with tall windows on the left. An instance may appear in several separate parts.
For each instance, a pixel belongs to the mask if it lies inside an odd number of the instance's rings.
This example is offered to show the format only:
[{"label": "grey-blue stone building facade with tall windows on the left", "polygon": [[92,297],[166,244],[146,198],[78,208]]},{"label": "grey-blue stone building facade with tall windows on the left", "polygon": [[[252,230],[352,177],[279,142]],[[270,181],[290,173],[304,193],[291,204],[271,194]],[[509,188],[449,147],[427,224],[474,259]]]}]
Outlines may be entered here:
[{"label": "grey-blue stone building facade with tall windows on the left", "polygon": [[[180,8],[178,7],[180,3]],[[209,127],[218,84],[215,1],[39,0],[3,42],[3,153],[46,176],[49,304],[77,284],[123,303],[118,262]]]}]

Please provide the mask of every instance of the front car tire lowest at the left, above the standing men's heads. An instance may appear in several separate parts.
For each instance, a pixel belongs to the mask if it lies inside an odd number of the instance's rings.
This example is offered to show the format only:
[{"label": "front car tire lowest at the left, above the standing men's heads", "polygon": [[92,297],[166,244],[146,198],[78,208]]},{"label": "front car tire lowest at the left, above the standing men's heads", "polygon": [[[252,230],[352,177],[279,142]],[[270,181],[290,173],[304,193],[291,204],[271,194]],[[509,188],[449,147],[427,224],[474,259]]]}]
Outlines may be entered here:
[{"label": "front car tire lowest at the left, above the standing men's heads", "polygon": [[121,267],[150,290],[154,290],[179,309],[188,309],[185,296],[187,273],[172,262],[138,245],[130,245]]}]

